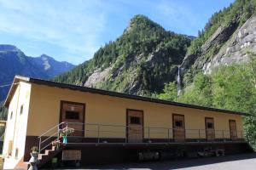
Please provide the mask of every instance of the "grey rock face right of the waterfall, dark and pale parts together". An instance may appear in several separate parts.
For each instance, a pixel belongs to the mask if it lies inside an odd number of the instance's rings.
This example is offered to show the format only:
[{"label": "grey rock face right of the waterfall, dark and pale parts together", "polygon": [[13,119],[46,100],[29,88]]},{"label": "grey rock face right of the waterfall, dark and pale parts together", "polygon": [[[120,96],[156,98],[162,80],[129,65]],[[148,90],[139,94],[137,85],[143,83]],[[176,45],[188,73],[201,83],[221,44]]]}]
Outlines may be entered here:
[{"label": "grey rock face right of the waterfall, dark and pale parts together", "polygon": [[[180,66],[181,77],[190,69],[194,73],[210,74],[219,65],[241,64],[256,54],[256,15],[242,26],[231,20],[228,26],[220,26],[201,46],[200,54],[186,54]],[[212,55],[207,53],[213,49]]]}]

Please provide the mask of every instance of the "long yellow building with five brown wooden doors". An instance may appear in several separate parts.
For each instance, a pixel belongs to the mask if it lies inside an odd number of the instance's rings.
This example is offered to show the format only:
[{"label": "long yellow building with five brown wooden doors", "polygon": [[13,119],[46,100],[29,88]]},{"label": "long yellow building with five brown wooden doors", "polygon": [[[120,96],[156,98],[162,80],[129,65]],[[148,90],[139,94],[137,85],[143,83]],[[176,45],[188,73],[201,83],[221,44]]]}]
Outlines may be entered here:
[{"label": "long yellow building with five brown wooden doors", "polygon": [[[24,165],[34,145],[39,147],[41,165],[53,156],[64,159],[68,150],[79,153],[84,165],[100,160],[104,151],[125,159],[122,154],[131,156],[132,151],[142,150],[161,154],[162,150],[171,153],[173,148],[182,148],[185,153],[210,144],[229,154],[247,148],[242,141],[242,116],[246,114],[236,111],[19,76],[4,105],[9,108],[4,167],[9,169]],[[49,150],[65,127],[74,129],[67,144],[61,150]],[[195,147],[189,147],[191,144]],[[42,155],[45,150],[47,154]]]}]

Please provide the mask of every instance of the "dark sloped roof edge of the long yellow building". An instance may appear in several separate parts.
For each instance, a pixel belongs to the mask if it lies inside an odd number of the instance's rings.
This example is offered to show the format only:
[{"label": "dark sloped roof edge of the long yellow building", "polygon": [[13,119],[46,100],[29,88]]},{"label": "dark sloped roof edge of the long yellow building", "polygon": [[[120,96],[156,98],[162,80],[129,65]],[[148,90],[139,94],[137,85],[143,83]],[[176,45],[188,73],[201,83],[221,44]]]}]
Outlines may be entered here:
[{"label": "dark sloped roof edge of the long yellow building", "polygon": [[[32,83],[46,85],[46,86],[50,86],[50,87],[79,90],[81,92],[88,92],[88,93],[92,93],[92,94],[102,94],[102,95],[108,95],[108,96],[113,96],[113,97],[118,97],[118,98],[136,99],[136,100],[158,103],[158,104],[163,104],[163,105],[177,105],[177,106],[181,106],[181,107],[188,107],[188,108],[194,108],[194,109],[205,110],[205,111],[218,111],[218,112],[236,114],[236,115],[241,115],[241,116],[249,116],[249,114],[247,114],[247,113],[242,113],[242,112],[238,112],[238,111],[216,109],[216,108],[204,107],[204,106],[200,106],[200,105],[189,105],[189,104],[167,101],[164,99],[154,99],[154,98],[142,97],[142,96],[137,96],[137,95],[132,95],[132,94],[123,94],[123,93],[118,93],[118,92],[113,92],[113,91],[108,91],[108,90],[102,90],[102,89],[98,89],[98,88],[87,88],[87,87],[76,86],[76,85],[71,85],[71,84],[66,84],[66,83],[61,83],[61,82],[52,82],[52,81],[38,79],[38,78],[32,78],[32,77],[16,76],[15,79],[20,79],[23,82],[32,82]],[[14,80],[14,82],[17,82],[17,81]],[[12,86],[12,88],[13,88],[13,86]],[[9,91],[9,94],[10,94],[10,92],[11,92],[11,89]],[[11,98],[11,96],[8,95],[7,99],[5,100],[4,105],[6,105],[6,106],[9,105],[10,98]]]}]

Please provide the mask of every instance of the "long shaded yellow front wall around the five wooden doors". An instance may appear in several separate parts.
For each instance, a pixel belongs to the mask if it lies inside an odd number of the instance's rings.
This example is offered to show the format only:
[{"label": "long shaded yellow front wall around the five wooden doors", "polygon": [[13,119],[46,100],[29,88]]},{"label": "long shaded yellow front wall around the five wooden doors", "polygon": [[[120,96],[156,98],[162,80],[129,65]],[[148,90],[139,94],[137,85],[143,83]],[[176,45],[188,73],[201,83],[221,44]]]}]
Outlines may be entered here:
[{"label": "long shaded yellow front wall around the five wooden doors", "polygon": [[[144,112],[144,138],[167,138],[167,129],[152,127],[172,128],[172,114],[183,114],[185,118],[186,138],[205,138],[205,117],[214,118],[215,130],[226,130],[225,138],[230,138],[229,119],[236,120],[237,131],[242,130],[241,116],[202,111],[173,105],[162,105],[151,102],[123,99],[101,94],[90,94],[64,88],[53,88],[32,84],[31,105],[29,111],[27,135],[38,136],[59,123],[61,100],[84,103],[85,122],[110,125],[125,125],[126,109],[143,110]],[[36,124],[36,126],[35,126]],[[86,130],[97,130],[96,126],[87,125]],[[194,130],[189,130],[194,129]],[[102,137],[125,137],[125,127],[101,127],[101,130],[116,130],[117,133],[102,133]],[[124,132],[124,133],[121,133]],[[172,130],[169,132],[172,137]],[[85,132],[87,137],[96,137],[96,132]],[[216,138],[222,138],[222,132],[216,133]],[[241,138],[241,133],[238,133]]]}]

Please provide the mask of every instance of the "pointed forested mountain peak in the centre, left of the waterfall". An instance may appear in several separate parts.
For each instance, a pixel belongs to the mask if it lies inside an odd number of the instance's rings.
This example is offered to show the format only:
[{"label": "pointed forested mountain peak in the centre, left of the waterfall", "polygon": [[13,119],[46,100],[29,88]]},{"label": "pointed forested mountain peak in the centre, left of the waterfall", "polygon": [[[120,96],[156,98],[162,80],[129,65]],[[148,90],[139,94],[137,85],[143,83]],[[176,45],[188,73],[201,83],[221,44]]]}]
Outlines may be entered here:
[{"label": "pointed forested mountain peak in the centre, left of the waterfall", "polygon": [[159,93],[165,82],[176,79],[192,39],[136,15],[119,38],[55,81],[127,94]]}]

